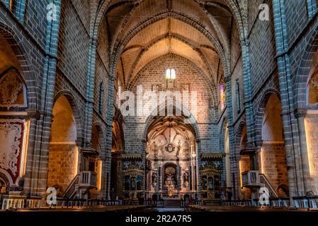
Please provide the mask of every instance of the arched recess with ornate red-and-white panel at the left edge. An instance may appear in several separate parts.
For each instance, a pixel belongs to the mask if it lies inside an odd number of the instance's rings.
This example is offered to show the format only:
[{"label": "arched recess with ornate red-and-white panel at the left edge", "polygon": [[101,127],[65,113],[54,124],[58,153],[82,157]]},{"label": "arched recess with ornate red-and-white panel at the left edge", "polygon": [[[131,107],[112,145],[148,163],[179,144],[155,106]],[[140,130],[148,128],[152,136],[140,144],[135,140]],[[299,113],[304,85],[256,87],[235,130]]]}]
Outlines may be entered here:
[{"label": "arched recess with ornate red-and-white panel at the left edge", "polygon": [[28,93],[18,69],[0,73],[0,172],[8,179],[8,190],[18,187],[22,191],[25,179],[30,128],[27,109]]}]

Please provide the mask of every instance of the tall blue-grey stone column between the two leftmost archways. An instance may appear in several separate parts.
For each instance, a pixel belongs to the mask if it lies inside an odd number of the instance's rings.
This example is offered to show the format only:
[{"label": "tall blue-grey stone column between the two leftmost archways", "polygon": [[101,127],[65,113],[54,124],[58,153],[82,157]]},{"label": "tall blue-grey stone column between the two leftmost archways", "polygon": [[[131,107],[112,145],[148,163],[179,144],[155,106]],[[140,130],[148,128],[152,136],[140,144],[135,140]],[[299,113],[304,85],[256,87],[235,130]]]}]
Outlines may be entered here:
[{"label": "tall blue-grey stone column between the two leftmost archways", "polygon": [[[61,13],[61,0],[54,0],[56,18],[47,20],[45,64],[43,66],[42,100],[40,117],[36,125],[35,144],[33,149],[32,169],[25,183],[25,194],[43,195],[47,186],[48,150],[52,124],[52,109],[54,104],[55,73],[57,68],[57,44],[59,40],[59,17]],[[56,19],[56,20],[55,20]]]}]

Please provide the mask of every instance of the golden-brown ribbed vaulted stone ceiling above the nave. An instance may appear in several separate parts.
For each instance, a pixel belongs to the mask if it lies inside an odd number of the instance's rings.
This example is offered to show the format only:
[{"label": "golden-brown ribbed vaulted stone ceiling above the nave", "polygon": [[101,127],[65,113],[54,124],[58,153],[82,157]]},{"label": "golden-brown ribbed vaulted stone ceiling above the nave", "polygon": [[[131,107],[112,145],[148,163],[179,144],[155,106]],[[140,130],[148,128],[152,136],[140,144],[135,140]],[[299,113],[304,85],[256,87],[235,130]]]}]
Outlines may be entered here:
[{"label": "golden-brown ribbed vaulted stone ceiling above the nave", "polygon": [[125,85],[169,53],[193,61],[217,83],[234,23],[225,0],[115,0],[106,21],[110,52],[118,57]]}]

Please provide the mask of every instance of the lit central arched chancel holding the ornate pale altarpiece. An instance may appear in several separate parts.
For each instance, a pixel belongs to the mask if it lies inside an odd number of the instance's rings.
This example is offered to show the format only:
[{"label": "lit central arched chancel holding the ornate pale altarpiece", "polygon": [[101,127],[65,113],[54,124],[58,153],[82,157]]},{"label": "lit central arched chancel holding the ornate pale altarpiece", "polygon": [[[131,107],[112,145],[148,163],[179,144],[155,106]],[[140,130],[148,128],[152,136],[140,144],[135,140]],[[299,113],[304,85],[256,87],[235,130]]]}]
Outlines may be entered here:
[{"label": "lit central arched chancel holding the ornate pale altarpiece", "polygon": [[147,130],[147,197],[197,198],[196,134],[184,117],[154,117]]}]

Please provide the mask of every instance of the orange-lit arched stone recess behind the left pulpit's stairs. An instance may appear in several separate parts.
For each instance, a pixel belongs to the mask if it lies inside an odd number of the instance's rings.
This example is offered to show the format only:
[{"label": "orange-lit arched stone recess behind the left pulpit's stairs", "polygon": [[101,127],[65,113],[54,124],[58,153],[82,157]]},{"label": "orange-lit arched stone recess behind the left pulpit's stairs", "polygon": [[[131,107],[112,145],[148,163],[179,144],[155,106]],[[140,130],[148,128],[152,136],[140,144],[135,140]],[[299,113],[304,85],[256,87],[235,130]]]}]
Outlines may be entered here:
[{"label": "orange-lit arched stone recess behind the left pulpit's stairs", "polygon": [[64,95],[57,98],[52,114],[47,186],[59,188],[62,196],[79,172],[76,123],[73,109]]}]

